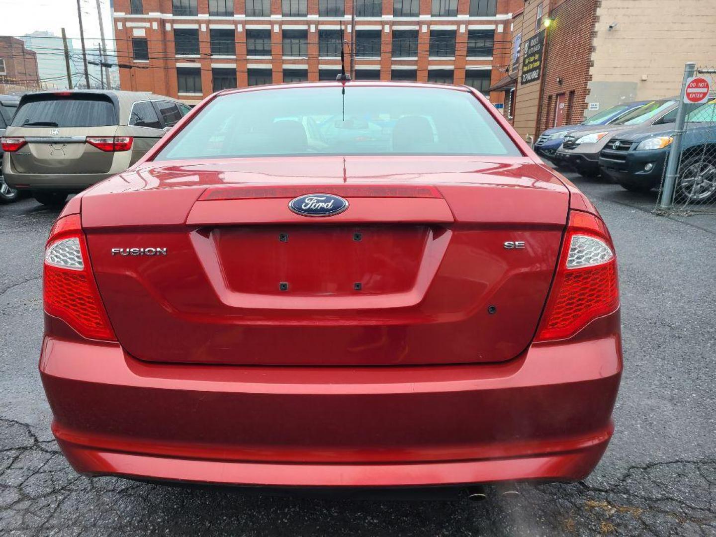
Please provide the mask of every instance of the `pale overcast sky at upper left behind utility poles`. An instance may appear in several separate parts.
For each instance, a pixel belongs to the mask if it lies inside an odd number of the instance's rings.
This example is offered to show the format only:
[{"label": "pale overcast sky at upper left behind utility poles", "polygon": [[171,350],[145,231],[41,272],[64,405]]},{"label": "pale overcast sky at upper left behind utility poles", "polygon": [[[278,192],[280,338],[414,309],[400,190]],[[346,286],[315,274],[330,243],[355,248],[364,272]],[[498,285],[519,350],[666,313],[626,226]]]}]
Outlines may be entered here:
[{"label": "pale overcast sky at upper left behind utility poles", "polygon": [[[110,0],[100,0],[100,4],[107,49],[114,50]],[[87,46],[96,47],[96,39],[100,38],[97,0],[80,0],[80,5],[84,38],[89,39]],[[79,47],[77,0],[0,0],[0,35],[20,36],[46,30],[59,37],[63,26],[67,37],[77,38],[75,44]]]}]

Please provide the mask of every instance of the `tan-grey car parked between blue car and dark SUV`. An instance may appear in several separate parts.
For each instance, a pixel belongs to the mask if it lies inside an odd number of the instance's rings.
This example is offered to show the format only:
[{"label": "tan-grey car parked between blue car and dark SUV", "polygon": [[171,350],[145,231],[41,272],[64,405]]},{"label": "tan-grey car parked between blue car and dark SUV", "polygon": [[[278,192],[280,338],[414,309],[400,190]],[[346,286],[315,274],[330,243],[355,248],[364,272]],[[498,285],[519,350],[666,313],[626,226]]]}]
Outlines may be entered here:
[{"label": "tan-grey car parked between blue car and dark SUV", "polygon": [[632,110],[610,125],[592,127],[574,134],[570,132],[557,150],[557,158],[581,175],[596,177],[599,175],[599,153],[606,142],[619,132],[637,125],[661,125],[673,121],[672,116],[664,117],[676,107],[675,99],[655,100]]}]

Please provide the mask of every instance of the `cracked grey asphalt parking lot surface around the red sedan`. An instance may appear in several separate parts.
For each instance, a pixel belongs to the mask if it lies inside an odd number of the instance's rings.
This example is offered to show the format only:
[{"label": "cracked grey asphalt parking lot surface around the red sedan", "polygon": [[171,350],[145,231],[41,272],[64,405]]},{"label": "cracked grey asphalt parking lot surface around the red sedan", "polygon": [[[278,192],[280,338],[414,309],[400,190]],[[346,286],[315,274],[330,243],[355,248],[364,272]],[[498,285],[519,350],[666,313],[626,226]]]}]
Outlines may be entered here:
[{"label": "cracked grey asphalt parking lot surface around the red sedan", "polygon": [[0,206],[0,535],[716,536],[716,215],[573,178],[619,256],[624,377],[594,473],[515,500],[352,500],[85,478],[49,431],[37,374],[42,250],[57,211]]}]

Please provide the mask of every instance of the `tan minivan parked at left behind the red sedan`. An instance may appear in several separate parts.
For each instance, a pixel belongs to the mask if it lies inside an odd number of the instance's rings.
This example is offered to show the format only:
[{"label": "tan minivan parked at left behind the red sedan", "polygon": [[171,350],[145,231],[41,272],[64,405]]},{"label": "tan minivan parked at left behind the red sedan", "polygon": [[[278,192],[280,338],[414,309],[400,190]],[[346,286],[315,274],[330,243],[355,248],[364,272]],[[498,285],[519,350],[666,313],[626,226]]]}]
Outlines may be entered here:
[{"label": "tan minivan parked at left behind the red sedan", "polygon": [[62,205],[126,170],[189,111],[145,92],[110,90],[24,95],[2,141],[6,182],[45,205]]}]

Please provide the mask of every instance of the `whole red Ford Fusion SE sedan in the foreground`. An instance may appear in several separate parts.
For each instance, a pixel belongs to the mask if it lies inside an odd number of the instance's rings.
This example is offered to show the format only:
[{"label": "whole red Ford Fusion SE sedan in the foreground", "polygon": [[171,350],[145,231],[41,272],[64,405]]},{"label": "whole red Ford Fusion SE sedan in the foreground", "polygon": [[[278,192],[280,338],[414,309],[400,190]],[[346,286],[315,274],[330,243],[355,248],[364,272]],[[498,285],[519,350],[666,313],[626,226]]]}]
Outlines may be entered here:
[{"label": "whole red Ford Fusion SE sedan in the foreground", "polygon": [[609,232],[468,87],[208,97],[69,201],[39,369],[81,473],[581,480],[621,376]]}]

